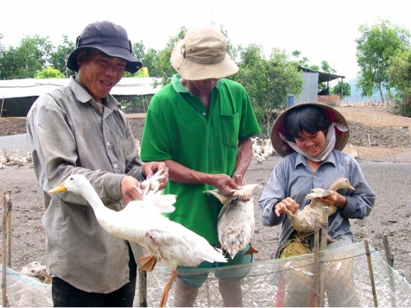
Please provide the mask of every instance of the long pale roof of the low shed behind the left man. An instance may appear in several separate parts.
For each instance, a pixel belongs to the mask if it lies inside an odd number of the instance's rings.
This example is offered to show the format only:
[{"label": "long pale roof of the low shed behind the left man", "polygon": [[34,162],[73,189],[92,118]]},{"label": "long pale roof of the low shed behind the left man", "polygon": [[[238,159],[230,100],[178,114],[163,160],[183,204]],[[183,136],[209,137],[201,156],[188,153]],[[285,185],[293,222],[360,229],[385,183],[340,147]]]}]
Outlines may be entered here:
[{"label": "long pale roof of the low shed behind the left man", "polygon": [[[153,77],[128,77],[122,78],[110,92],[112,95],[145,95],[155,94],[160,86],[153,88]],[[0,80],[0,99],[12,99],[15,97],[39,97],[41,94],[49,93],[55,88],[65,86],[69,79],[11,79]]]}]

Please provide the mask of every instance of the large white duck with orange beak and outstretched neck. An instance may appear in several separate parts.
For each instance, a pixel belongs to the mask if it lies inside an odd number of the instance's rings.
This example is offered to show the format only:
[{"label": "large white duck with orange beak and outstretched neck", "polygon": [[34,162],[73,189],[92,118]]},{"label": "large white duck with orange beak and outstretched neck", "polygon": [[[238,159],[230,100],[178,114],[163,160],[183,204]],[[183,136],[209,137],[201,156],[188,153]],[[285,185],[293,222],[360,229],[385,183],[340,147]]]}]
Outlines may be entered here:
[{"label": "large white duck with orange beak and outstretched neck", "polygon": [[71,175],[49,192],[65,191],[86,198],[105,231],[116,238],[136,242],[152,254],[138,259],[142,264],[139,270],[153,270],[156,259],[171,270],[160,307],[166,305],[169,290],[177,277],[177,266],[197,266],[202,261],[227,262],[221,251],[216,251],[206,239],[162,216],[162,213],[174,211],[175,195],[147,194],[142,201],[131,201],[125,209],[113,211],[104,206],[83,175]]}]

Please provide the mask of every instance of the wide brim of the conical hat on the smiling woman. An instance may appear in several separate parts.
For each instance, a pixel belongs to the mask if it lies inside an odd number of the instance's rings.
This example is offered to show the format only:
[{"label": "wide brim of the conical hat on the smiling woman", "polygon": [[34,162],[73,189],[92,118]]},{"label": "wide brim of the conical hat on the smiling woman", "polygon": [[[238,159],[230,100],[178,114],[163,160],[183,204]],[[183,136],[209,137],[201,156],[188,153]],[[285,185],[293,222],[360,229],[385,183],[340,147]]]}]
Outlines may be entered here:
[{"label": "wide brim of the conical hat on the smiling woman", "polygon": [[[324,112],[325,116],[327,116],[327,118],[331,120],[332,123],[342,123],[348,129],[348,123],[347,120],[345,120],[343,114],[340,114],[338,110],[334,109],[329,105],[324,105],[321,103],[303,103],[294,105],[285,110],[284,112],[282,112],[282,114],[278,116],[277,120],[275,120],[275,123],[271,128],[271,143],[273,144],[275,152],[281,155],[282,157],[285,157],[286,155],[295,152],[295,150],[292,149],[291,146],[289,146],[280,138],[279,133],[281,133],[283,136],[286,136],[286,125],[284,123],[286,115],[288,114],[288,112],[290,112],[290,110],[292,110],[293,108],[297,108],[301,105],[314,105],[316,107],[319,107]],[[349,130],[339,131],[338,129],[336,129],[336,145],[334,146],[334,149],[338,151],[343,151],[345,145],[348,142],[348,138]]]}]

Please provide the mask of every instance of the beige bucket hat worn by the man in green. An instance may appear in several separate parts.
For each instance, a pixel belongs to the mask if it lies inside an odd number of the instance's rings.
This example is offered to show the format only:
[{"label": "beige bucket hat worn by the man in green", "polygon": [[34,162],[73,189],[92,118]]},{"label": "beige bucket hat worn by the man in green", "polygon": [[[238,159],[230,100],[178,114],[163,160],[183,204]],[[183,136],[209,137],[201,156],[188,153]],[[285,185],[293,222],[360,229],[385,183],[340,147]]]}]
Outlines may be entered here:
[{"label": "beige bucket hat worn by the man in green", "polygon": [[227,40],[211,26],[191,27],[171,52],[171,65],[186,80],[220,79],[238,72]]}]

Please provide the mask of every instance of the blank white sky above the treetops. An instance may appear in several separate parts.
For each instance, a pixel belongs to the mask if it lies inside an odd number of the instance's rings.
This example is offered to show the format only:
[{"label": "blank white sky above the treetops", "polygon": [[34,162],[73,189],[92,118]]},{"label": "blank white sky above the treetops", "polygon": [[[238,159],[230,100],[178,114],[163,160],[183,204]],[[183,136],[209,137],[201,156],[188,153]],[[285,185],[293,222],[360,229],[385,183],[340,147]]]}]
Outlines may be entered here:
[{"label": "blank white sky above the treetops", "polygon": [[261,44],[287,53],[299,50],[310,65],[325,60],[336,74],[356,77],[358,27],[378,18],[411,31],[408,0],[3,0],[1,43],[18,46],[24,36],[62,35],[75,40],[94,21],[109,20],[127,30],[132,43],[142,40],[146,50],[162,49],[184,25],[223,25],[234,46]]}]

